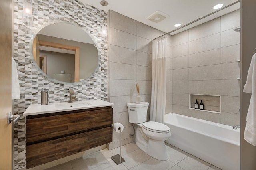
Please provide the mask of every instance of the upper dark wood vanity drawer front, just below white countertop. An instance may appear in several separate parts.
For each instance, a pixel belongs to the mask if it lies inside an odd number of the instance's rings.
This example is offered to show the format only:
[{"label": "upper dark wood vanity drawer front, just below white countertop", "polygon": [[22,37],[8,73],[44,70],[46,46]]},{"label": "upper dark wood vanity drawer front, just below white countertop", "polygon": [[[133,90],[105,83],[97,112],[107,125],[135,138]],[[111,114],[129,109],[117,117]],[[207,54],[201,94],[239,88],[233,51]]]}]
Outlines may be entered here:
[{"label": "upper dark wood vanity drawer front, just below white countertop", "polygon": [[90,130],[110,127],[113,109],[85,109],[75,113],[52,113],[44,117],[26,118],[26,144],[35,144]]}]

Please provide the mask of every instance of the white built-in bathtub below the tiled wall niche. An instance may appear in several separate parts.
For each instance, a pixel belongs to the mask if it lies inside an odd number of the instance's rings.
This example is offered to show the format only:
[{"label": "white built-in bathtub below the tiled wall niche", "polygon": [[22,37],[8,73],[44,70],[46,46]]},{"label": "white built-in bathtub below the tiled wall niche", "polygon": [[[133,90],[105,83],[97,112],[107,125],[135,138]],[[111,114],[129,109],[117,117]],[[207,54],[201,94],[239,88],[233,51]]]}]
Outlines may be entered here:
[{"label": "white built-in bathtub below the tiled wall niche", "polygon": [[240,169],[240,130],[175,113],[164,119],[172,134],[166,143],[223,170]]}]

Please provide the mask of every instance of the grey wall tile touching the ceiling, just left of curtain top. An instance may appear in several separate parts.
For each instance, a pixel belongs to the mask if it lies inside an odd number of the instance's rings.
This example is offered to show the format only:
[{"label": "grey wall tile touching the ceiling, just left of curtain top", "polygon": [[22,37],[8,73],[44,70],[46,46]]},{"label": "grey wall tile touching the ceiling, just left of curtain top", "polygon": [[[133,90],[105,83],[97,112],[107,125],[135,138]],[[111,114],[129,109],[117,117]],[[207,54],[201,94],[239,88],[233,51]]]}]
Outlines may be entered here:
[{"label": "grey wall tile touching the ceiling, just left of curtain top", "polygon": [[156,35],[157,31],[155,28],[142,24],[141,22],[137,22],[137,36],[153,40],[157,37]]}]

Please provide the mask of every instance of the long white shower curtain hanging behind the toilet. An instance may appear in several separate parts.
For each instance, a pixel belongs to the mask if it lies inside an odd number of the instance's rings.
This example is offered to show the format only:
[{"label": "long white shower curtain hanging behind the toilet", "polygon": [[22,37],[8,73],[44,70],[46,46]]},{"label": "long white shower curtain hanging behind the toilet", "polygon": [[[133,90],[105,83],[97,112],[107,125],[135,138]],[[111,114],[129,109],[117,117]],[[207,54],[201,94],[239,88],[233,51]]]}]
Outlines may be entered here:
[{"label": "long white shower curtain hanging behind the toilet", "polygon": [[150,121],[164,123],[166,103],[166,36],[153,40]]}]

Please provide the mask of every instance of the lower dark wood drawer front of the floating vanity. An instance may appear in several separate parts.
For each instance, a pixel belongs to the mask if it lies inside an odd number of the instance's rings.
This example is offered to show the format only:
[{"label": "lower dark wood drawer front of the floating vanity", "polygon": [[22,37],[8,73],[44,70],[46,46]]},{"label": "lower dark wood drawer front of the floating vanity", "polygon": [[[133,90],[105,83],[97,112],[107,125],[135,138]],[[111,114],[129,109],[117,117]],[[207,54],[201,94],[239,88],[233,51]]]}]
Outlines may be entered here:
[{"label": "lower dark wood drawer front of the floating vanity", "polygon": [[26,146],[26,168],[112,142],[112,127]]}]

